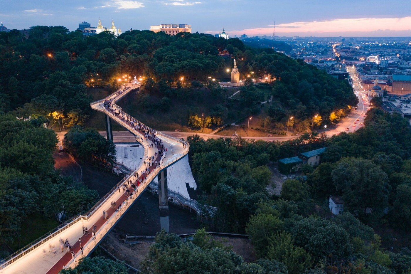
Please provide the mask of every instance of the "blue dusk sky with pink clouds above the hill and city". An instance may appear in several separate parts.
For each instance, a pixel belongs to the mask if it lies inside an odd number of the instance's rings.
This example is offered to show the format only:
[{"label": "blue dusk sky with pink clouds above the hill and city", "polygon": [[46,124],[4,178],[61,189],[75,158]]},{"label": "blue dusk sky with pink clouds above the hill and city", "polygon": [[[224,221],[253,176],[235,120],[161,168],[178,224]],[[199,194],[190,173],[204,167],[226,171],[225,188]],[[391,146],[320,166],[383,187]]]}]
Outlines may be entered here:
[{"label": "blue dusk sky with pink clouds above the hill and city", "polygon": [[[278,36],[411,36],[410,0],[18,0],[4,2],[0,21],[9,28],[34,25],[78,28],[82,21],[109,28],[149,29],[162,23],[191,24],[193,32],[231,37]],[[7,4],[8,3],[8,4]]]}]

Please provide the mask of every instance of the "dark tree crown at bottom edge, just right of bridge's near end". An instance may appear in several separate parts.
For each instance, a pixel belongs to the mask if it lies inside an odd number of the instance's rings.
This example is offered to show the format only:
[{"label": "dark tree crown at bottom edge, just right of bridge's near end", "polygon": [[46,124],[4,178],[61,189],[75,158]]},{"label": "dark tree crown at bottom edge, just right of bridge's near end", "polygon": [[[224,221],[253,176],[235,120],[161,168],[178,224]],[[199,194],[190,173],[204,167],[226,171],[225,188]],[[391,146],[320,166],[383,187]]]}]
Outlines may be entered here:
[{"label": "dark tree crown at bottom edge, just right of bridge's near end", "polygon": [[128,269],[123,262],[115,262],[104,257],[85,257],[79,265],[72,269],[62,269],[59,274],[127,274]]}]

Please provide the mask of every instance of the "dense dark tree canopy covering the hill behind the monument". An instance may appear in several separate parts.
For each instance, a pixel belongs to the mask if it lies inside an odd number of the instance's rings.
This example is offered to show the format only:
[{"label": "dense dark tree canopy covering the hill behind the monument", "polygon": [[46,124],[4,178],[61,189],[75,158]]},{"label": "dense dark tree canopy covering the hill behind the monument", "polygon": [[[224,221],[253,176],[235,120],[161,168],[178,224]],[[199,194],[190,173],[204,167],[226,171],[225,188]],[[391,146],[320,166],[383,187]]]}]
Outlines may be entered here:
[{"label": "dense dark tree canopy covering the hill behind the monument", "polygon": [[[48,123],[61,121],[66,127],[83,125],[91,114],[89,88],[113,91],[134,75],[147,90],[202,87],[211,78],[229,77],[226,69],[232,67],[232,60],[218,56],[224,49],[237,59],[241,77],[272,79],[268,88],[278,105],[270,109],[266,124],[277,130],[281,126],[276,123],[290,115],[299,131],[315,114],[335,123],[357,103],[347,83],[270,48],[246,46],[237,38],[199,33],[169,36],[148,30],[84,37],[62,26],[33,26],[28,37],[18,30],[0,33],[0,112],[17,109],[18,117],[43,116]],[[260,91],[247,86],[242,100],[252,104],[245,106],[251,109],[248,112],[256,113],[259,110],[253,106],[270,96],[261,98]]]}]

